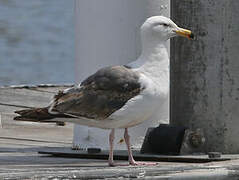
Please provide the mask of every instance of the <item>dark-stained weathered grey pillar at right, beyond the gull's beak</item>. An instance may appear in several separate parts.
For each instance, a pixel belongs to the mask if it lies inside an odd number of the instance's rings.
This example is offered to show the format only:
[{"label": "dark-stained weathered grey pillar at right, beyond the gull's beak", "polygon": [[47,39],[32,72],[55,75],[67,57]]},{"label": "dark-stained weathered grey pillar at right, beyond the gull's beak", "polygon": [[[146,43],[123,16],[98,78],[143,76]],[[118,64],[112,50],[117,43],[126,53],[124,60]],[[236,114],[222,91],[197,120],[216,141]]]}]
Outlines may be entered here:
[{"label": "dark-stained weathered grey pillar at right, beyond the gull's beak", "polygon": [[171,123],[202,128],[206,151],[239,153],[239,1],[171,1],[196,34],[171,41]]}]

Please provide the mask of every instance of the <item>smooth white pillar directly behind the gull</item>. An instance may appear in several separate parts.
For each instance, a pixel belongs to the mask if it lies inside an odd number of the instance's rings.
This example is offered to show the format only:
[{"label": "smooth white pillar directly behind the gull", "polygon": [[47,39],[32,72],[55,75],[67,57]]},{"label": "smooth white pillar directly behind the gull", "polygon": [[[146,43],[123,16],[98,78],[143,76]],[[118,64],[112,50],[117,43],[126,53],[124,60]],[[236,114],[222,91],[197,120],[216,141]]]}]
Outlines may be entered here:
[{"label": "smooth white pillar directly behind the gull", "polygon": [[[152,15],[169,16],[169,0],[75,0],[77,82],[101,67],[136,60],[141,52],[140,26]],[[167,102],[163,108],[155,118],[130,129],[133,146],[140,146],[148,127],[157,126],[162,119],[168,122]],[[117,144],[122,130],[116,132],[116,148],[124,149],[124,143]],[[108,134],[76,125],[73,146],[108,149]]]}]

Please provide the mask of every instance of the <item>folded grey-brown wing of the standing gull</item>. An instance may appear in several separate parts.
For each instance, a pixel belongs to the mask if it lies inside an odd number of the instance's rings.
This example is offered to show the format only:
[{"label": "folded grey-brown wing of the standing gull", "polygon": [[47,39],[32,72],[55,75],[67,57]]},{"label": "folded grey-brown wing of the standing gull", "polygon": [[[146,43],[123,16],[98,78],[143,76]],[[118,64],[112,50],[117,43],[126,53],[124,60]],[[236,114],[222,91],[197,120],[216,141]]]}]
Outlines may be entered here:
[{"label": "folded grey-brown wing of the standing gull", "polygon": [[59,92],[51,111],[90,119],[105,119],[143,89],[139,74],[127,66],[100,69],[66,92]]}]

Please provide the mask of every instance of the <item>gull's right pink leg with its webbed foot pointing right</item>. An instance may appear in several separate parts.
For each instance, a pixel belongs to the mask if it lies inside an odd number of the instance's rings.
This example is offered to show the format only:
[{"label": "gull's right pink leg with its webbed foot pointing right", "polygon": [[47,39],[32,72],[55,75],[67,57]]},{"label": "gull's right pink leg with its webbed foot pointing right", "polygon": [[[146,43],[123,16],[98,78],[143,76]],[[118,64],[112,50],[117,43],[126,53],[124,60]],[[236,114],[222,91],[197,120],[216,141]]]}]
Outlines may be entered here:
[{"label": "gull's right pink leg with its webbed foot pointing right", "polygon": [[125,143],[126,143],[126,146],[127,146],[127,149],[128,149],[129,164],[130,165],[134,165],[134,166],[137,166],[137,165],[157,165],[157,163],[154,163],[154,162],[136,162],[134,160],[132,150],[131,150],[130,136],[129,136],[129,133],[128,133],[128,128],[125,128],[124,139],[125,139]]}]

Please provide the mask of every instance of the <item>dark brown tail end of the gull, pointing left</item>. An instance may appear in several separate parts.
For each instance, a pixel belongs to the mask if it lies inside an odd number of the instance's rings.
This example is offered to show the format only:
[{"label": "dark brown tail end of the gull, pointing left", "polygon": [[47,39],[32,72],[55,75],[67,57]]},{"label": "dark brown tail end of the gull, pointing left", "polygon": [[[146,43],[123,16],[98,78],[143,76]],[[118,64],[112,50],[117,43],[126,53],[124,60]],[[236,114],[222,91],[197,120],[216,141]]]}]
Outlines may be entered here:
[{"label": "dark brown tail end of the gull, pointing left", "polygon": [[16,121],[31,121],[31,122],[60,122],[54,120],[55,118],[72,118],[65,114],[50,114],[48,107],[44,108],[33,108],[15,111],[20,116],[14,117]]}]

